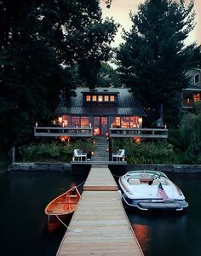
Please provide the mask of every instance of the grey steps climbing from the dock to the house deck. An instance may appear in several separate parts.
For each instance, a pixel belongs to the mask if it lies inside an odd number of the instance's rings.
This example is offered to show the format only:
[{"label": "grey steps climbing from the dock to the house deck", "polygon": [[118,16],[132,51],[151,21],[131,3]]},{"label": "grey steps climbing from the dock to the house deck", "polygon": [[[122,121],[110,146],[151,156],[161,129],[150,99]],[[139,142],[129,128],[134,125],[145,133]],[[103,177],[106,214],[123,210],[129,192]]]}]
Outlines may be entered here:
[{"label": "grey steps climbing from the dock to the house deck", "polygon": [[91,161],[108,161],[109,151],[106,151],[106,148],[109,149],[109,141],[106,140],[106,137],[94,137],[94,141],[95,151],[94,155],[91,156]]}]

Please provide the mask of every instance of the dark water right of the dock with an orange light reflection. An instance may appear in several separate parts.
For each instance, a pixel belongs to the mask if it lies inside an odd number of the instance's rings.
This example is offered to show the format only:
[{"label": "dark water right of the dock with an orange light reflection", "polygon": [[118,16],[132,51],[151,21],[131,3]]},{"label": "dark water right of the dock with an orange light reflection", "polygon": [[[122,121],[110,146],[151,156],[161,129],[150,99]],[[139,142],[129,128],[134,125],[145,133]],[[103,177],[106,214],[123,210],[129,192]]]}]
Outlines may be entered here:
[{"label": "dark water right of the dock with an orange light reflection", "polygon": [[126,208],[145,256],[197,256],[201,239],[201,176],[171,175],[187,198],[186,212],[141,212]]}]

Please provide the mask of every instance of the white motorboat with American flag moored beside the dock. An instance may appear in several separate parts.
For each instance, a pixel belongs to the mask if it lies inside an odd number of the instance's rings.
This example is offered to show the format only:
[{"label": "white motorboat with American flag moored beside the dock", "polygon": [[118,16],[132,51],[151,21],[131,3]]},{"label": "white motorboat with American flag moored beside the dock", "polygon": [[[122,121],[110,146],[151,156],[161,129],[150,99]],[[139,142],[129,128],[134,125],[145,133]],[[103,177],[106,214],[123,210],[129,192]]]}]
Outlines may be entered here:
[{"label": "white motorboat with American flag moored beside the dock", "polygon": [[130,171],[119,177],[123,202],[140,210],[182,211],[188,203],[181,189],[164,174],[150,170]]}]

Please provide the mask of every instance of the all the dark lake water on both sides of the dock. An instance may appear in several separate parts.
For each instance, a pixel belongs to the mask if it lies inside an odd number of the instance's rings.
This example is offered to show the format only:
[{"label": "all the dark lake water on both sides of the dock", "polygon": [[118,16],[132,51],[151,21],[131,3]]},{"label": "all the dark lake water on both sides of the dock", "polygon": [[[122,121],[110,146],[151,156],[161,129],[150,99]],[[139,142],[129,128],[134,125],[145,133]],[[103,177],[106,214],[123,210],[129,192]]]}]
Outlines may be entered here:
[{"label": "all the dark lake water on both sides of the dock", "polygon": [[[127,214],[146,256],[200,255],[201,175],[171,175],[189,202],[185,214],[130,212]],[[86,179],[69,174],[0,174],[0,255],[55,256],[65,228],[49,234],[44,207]],[[82,191],[82,186],[79,187]]]}]

